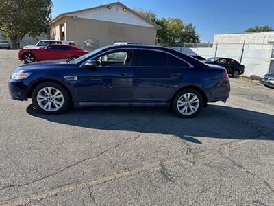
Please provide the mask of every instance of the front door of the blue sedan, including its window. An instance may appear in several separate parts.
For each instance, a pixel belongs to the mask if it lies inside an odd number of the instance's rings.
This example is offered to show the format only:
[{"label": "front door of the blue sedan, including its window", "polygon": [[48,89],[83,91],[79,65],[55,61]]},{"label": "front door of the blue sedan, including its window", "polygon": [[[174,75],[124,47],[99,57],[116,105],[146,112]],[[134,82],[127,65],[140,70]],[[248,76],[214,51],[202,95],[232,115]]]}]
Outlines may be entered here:
[{"label": "front door of the blue sedan, including its window", "polygon": [[129,102],[132,96],[134,52],[116,50],[95,58],[97,67],[79,70],[80,102]]}]

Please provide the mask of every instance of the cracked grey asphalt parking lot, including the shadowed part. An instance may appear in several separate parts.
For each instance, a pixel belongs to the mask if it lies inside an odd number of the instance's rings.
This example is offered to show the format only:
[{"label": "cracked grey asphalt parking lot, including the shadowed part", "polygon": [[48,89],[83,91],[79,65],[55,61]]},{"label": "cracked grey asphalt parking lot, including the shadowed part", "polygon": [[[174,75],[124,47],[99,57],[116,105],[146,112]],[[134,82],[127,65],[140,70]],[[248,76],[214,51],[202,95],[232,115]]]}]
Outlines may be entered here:
[{"label": "cracked grey asphalt parking lot, including the shadowed part", "polygon": [[193,119],[166,108],[41,115],[0,50],[0,205],[274,205],[274,89],[231,79]]}]

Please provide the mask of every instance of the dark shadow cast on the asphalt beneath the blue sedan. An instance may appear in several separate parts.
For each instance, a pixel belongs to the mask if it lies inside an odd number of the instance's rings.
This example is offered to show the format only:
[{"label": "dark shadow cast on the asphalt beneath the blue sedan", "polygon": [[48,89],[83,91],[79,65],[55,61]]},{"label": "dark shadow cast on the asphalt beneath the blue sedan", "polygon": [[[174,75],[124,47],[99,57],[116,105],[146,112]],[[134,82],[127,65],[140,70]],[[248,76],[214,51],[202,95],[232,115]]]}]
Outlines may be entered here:
[{"label": "dark shadow cast on the asphalt beneath the blue sedan", "polygon": [[176,117],[165,107],[73,108],[62,115],[44,115],[27,107],[29,115],[50,122],[100,130],[125,130],[175,135],[201,144],[195,137],[274,140],[274,116],[228,106],[209,105],[192,119]]}]

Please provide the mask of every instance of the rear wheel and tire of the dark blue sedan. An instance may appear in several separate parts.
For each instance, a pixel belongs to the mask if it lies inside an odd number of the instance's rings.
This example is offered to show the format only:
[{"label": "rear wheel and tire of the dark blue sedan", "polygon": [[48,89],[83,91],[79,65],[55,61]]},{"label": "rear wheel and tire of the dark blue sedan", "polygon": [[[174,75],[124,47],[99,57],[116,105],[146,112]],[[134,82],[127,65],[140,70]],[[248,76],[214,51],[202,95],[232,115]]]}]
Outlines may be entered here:
[{"label": "rear wheel and tire of the dark blue sedan", "polygon": [[[181,106],[180,106],[181,105]],[[196,89],[184,89],[173,98],[173,112],[184,118],[197,115],[203,106],[203,97]]]}]

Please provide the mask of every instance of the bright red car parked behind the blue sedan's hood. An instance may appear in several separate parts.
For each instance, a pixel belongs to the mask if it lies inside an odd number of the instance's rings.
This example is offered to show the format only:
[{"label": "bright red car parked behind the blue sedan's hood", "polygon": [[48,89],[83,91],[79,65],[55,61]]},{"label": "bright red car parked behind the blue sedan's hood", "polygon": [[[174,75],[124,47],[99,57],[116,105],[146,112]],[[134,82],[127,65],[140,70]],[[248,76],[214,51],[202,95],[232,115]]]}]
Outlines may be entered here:
[{"label": "bright red car parked behind the blue sedan's hood", "polygon": [[18,57],[25,63],[31,63],[43,60],[75,59],[87,53],[88,51],[72,45],[55,44],[42,48],[20,49]]}]

